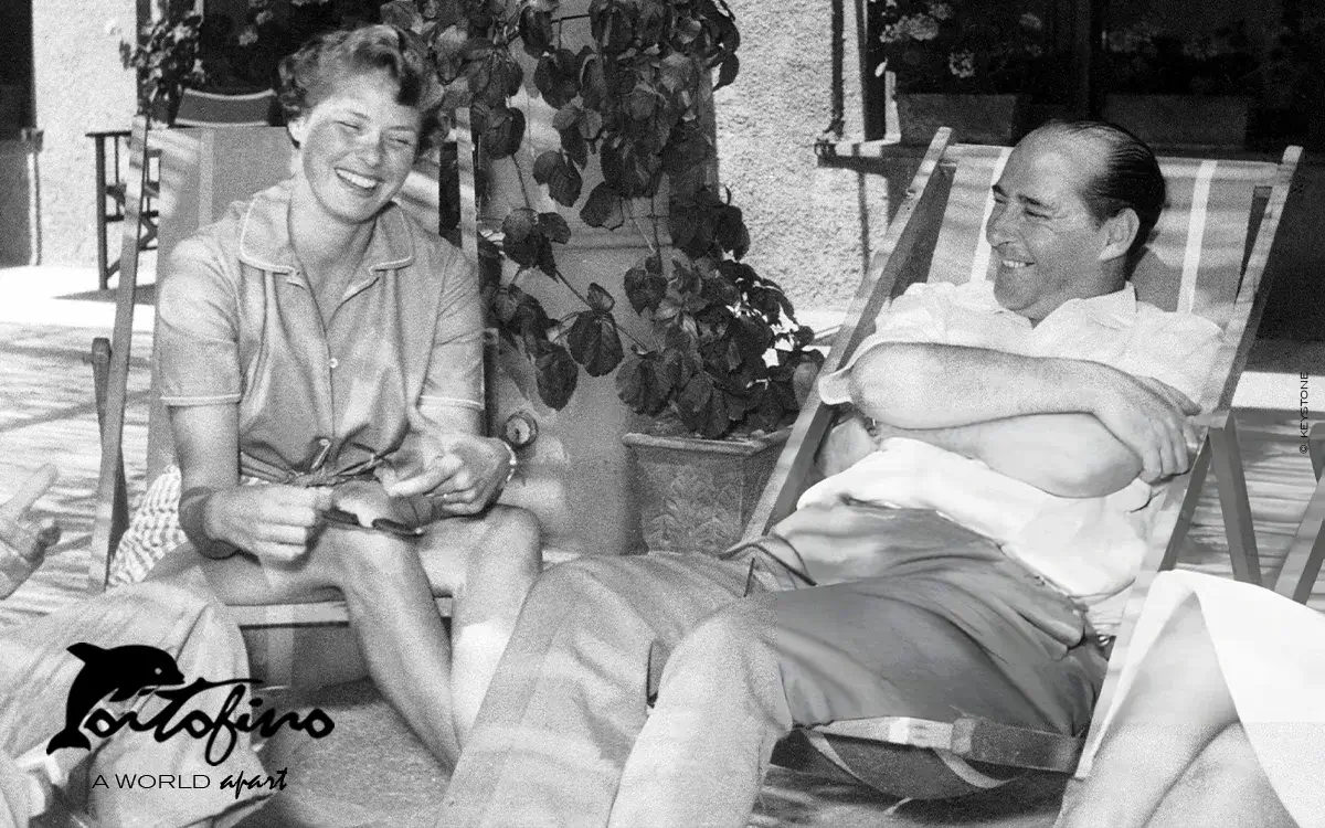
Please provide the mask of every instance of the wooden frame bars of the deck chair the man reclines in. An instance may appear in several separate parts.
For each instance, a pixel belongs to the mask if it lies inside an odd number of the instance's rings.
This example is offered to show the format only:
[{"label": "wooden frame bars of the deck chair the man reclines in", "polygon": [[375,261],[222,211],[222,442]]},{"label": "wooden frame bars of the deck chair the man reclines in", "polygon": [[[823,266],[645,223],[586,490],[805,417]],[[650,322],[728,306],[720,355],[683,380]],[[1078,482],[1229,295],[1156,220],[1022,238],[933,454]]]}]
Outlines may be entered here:
[{"label": "wooden frame bars of the deck chair the man reclines in", "polygon": [[[884,305],[913,282],[928,278],[945,208],[951,192],[955,164],[961,147],[950,143],[951,131],[939,129],[920,163],[910,187],[889,223],[880,253],[861,281],[847,317],[835,339],[822,372],[839,370],[868,335],[869,325]],[[829,148],[839,158],[878,156],[881,142],[843,144]],[[954,150],[957,152],[954,152]],[[1256,539],[1251,526],[1251,507],[1246,477],[1238,452],[1238,427],[1230,412],[1238,378],[1255,340],[1256,327],[1268,295],[1265,274],[1271,249],[1288,199],[1289,185],[1301,158],[1300,147],[1289,147],[1269,185],[1257,185],[1248,216],[1247,238],[1243,250],[1242,274],[1232,302],[1231,317],[1224,326],[1215,364],[1207,378],[1207,388],[1200,400],[1214,413],[1200,423],[1207,433],[1192,469],[1174,480],[1165,495],[1157,519],[1151,548],[1142,563],[1141,574],[1130,588],[1128,607],[1120,633],[1114,641],[1109,672],[1101,692],[1096,715],[1108,709],[1117,684],[1117,673],[1124,664],[1132,628],[1145,603],[1150,582],[1177,562],[1179,544],[1191,525],[1200,486],[1210,470],[1219,478],[1222,510],[1235,576],[1239,580],[1260,583],[1261,574],[1256,554]],[[1207,162],[1208,163],[1208,162]],[[1208,185],[1208,181],[1207,181]],[[987,213],[986,213],[987,219]],[[1190,244],[1190,241],[1189,241]],[[1199,244],[1199,242],[1198,242]],[[1186,282],[1186,280],[1185,280]],[[1179,286],[1186,289],[1186,284]],[[1216,384],[1218,383],[1218,384]],[[753,542],[766,534],[778,521],[788,515],[796,498],[810,481],[816,452],[833,423],[836,411],[824,405],[818,392],[811,392],[778,464],[746,525],[742,542]],[[1325,431],[1312,432],[1312,460],[1320,480],[1325,468]],[[1306,519],[1289,552],[1280,592],[1305,600],[1310,584],[1325,558],[1325,541],[1318,539],[1325,522],[1325,484],[1320,484],[1308,507]],[[1093,722],[1094,731],[1100,722]],[[869,784],[851,771],[824,735],[845,737],[908,745],[949,751],[959,758],[1031,770],[1085,774],[1079,759],[1085,746],[1084,738],[1040,733],[1023,727],[1010,727],[979,718],[957,718],[953,722],[934,722],[906,717],[878,717],[833,722],[800,730],[788,738],[774,754],[774,762],[795,770],[815,772],[841,780]],[[799,739],[799,745],[796,742]],[[804,743],[816,750],[804,750]]]}]

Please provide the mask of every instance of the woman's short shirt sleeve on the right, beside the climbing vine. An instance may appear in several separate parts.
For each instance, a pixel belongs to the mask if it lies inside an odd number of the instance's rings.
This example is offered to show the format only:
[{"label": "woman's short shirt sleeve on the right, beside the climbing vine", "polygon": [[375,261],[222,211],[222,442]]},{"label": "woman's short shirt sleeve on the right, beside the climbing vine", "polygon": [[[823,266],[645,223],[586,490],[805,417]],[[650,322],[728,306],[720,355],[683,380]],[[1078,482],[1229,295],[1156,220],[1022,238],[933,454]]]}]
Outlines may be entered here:
[{"label": "woman's short shirt sleeve on the right, beside the climbing vine", "polygon": [[420,412],[435,416],[443,408],[484,409],[482,336],[478,274],[456,250],[447,262]]}]

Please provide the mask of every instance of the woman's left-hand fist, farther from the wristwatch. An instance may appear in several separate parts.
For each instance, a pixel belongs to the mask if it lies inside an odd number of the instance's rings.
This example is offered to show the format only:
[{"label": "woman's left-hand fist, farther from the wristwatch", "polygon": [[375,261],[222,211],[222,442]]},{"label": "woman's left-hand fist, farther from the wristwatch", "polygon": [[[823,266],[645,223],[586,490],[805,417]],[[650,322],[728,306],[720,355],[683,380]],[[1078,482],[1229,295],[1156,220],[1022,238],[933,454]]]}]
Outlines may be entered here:
[{"label": "woman's left-hand fist, farther from the wristwatch", "polygon": [[307,554],[323,526],[322,511],[330,506],[330,489],[231,486],[208,495],[203,527],[208,538],[258,559],[292,562]]}]

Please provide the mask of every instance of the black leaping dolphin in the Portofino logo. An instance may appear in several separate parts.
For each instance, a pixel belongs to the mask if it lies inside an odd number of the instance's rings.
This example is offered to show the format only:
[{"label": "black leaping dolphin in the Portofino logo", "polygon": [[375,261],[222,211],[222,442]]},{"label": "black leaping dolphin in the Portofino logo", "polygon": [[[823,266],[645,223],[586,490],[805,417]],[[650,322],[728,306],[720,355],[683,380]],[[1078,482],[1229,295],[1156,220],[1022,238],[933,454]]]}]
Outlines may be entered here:
[{"label": "black leaping dolphin in the Portofino logo", "polygon": [[184,684],[175,658],[155,647],[130,644],[102,649],[95,644],[78,643],[72,644],[69,652],[83,661],[83,668],[69,688],[65,729],[46,743],[48,754],[61,747],[91,750],[91,742],[80,727],[106,696],[113,702],[122,702],[147,688]]}]

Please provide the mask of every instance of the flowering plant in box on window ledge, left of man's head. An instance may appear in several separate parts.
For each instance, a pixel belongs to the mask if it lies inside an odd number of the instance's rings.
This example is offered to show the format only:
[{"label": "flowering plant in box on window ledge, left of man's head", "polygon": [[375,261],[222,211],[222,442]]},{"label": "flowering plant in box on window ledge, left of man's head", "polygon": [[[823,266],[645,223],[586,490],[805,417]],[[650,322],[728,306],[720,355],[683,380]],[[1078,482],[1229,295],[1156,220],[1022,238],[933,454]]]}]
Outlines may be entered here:
[{"label": "flowering plant in box on window ledge, left of man's head", "polygon": [[[1010,144],[1040,86],[1040,17],[1007,0],[872,0],[884,60],[897,77],[902,143],[926,144],[939,126],[970,143]],[[876,28],[877,26],[877,28]]]}]

